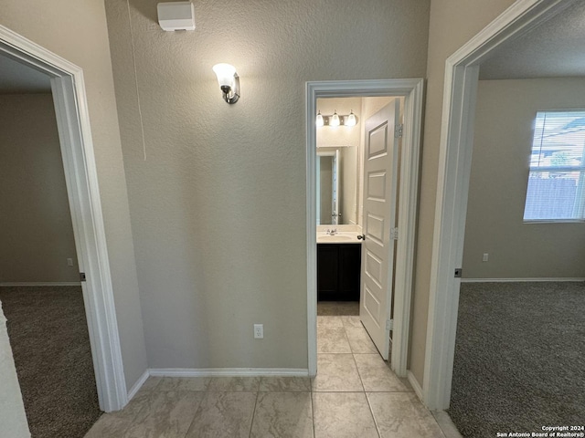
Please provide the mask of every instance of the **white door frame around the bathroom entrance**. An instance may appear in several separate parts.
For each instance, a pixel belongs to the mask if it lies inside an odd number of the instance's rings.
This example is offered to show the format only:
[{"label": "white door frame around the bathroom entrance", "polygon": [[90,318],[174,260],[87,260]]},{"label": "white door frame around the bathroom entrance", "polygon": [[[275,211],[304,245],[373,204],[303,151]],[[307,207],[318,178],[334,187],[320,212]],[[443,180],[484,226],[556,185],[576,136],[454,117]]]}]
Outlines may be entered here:
[{"label": "white door frame around the bathroom entrance", "polygon": [[309,375],[317,372],[317,245],[315,209],[315,157],[317,99],[391,96],[404,97],[404,129],[400,161],[400,238],[396,255],[394,329],[391,367],[399,376],[407,373],[416,218],[419,190],[420,133],[423,79],[374,79],[314,81],[306,84],[306,243],[307,332]]}]

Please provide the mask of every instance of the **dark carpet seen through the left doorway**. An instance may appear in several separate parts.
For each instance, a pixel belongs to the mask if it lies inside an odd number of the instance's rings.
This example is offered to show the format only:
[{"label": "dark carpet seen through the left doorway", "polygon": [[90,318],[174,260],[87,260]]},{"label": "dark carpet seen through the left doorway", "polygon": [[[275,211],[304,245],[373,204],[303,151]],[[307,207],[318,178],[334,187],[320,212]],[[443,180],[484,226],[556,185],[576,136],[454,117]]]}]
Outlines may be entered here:
[{"label": "dark carpet seen through the left doorway", "polygon": [[84,436],[101,411],[81,287],[0,287],[0,301],[33,438]]}]

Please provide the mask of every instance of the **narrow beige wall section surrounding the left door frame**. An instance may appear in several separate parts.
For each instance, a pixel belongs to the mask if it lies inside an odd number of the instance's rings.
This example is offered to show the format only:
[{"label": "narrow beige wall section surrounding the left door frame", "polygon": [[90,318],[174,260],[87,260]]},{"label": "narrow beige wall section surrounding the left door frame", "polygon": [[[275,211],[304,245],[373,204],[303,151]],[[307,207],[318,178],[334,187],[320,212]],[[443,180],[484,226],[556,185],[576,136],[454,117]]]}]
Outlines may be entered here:
[{"label": "narrow beige wall section surrounding the left door frame", "polygon": [[83,68],[126,385],[146,370],[146,353],[112,60],[102,0],[3,0],[0,25]]}]

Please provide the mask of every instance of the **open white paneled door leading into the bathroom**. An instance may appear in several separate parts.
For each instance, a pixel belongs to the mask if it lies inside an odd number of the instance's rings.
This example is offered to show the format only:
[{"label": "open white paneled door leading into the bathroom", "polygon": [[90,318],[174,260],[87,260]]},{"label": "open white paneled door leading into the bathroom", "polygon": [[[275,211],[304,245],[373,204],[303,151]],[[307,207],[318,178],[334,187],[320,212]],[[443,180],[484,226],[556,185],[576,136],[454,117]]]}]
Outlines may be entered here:
[{"label": "open white paneled door leading into the bathroom", "polygon": [[399,99],[366,120],[362,285],[359,317],[380,355],[388,360],[394,240],[398,193],[398,147],[394,132]]}]

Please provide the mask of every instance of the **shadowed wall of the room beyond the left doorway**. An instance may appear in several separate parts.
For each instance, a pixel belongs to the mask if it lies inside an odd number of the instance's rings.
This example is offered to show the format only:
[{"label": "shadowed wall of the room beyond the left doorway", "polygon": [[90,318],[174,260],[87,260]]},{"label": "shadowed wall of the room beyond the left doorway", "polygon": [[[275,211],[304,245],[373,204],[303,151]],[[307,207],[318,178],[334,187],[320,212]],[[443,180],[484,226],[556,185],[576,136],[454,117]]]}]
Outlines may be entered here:
[{"label": "shadowed wall of the room beyond the left doorway", "polygon": [[0,174],[0,283],[79,282],[50,93],[0,95]]}]

